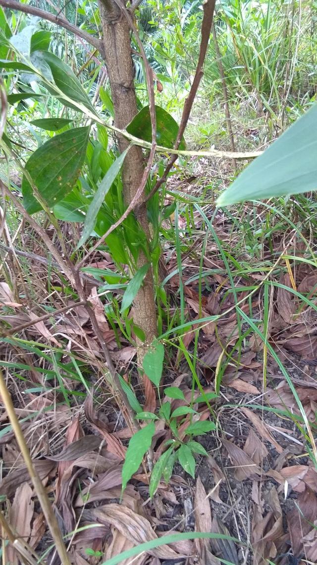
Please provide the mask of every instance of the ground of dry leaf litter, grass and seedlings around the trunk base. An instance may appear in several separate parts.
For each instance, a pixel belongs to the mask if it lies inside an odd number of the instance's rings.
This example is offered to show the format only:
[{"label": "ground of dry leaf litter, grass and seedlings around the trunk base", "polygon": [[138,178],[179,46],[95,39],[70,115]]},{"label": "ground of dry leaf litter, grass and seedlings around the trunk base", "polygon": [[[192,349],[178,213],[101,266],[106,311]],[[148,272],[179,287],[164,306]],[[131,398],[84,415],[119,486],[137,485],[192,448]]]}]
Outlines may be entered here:
[{"label": "ground of dry leaf litter, grass and seedlings around the trunk base", "polygon": [[[6,381],[78,565],[126,550],[124,563],[153,565],[317,561],[316,203],[303,195],[215,210],[215,176],[205,160],[192,164],[190,182],[181,170],[169,181],[166,208],[177,205],[162,223],[160,353],[144,359],[145,387],[121,306],[131,284],[107,250],[82,272],[134,429],[85,308],[32,231],[19,233],[15,255],[2,249],[16,273],[0,283]],[[63,229],[73,248],[74,224]],[[1,421],[2,512],[39,560],[55,563],[4,408]],[[139,425],[149,433],[135,434]],[[131,436],[143,443],[129,453]],[[186,539],[158,546],[180,532]],[[2,551],[5,563],[19,562],[12,546]]]}]

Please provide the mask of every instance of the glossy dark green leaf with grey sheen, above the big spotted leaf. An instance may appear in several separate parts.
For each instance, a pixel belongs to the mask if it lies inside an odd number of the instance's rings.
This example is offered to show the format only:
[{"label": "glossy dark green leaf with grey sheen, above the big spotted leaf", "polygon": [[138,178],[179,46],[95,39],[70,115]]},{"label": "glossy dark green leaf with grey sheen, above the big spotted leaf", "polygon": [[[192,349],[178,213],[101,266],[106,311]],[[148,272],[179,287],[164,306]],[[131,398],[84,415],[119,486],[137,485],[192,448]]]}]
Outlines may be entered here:
[{"label": "glossy dark green leaf with grey sheen, above the big spotted leaf", "polygon": [[[77,76],[74,75],[72,69],[68,67],[67,64],[56,57],[56,55],[50,53],[50,51],[36,51],[34,54],[38,55],[50,67],[55,84],[61,92],[66,94],[73,101],[80,102],[83,106],[86,106],[86,108],[94,112],[94,107],[91,105],[89,96],[86,94],[85,90],[83,90]],[[63,103],[65,106],[76,108],[76,106],[70,105],[67,101],[63,101]]]}]

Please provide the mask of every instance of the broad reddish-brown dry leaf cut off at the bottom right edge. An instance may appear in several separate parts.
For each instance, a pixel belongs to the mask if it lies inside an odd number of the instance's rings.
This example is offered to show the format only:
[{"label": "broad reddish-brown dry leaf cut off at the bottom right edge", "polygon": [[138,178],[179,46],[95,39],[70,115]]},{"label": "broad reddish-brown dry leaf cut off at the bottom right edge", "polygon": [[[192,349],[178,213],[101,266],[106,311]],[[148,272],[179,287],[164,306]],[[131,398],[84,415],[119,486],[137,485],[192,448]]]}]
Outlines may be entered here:
[{"label": "broad reddish-brown dry leaf cut off at the bottom right edge", "polygon": [[[288,531],[292,542],[293,555],[301,555],[305,551],[307,560],[315,562],[317,555],[317,531],[311,535],[311,524],[317,520],[317,498],[306,486],[304,492],[298,494],[298,508],[287,513]],[[309,544],[303,544],[303,538],[309,534]]]}]

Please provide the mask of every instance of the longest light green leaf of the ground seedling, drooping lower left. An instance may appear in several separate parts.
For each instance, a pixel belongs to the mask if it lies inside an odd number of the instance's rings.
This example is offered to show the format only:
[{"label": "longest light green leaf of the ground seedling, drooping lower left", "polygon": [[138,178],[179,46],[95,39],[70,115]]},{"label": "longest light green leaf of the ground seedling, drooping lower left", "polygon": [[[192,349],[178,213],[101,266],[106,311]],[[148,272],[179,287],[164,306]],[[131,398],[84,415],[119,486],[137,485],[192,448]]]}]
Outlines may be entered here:
[{"label": "longest light green leaf of the ground seedling, drooping lower left", "polygon": [[127,481],[138,471],[144,455],[151,447],[154,434],[155,425],[154,422],[151,422],[131,437],[126,451],[125,462],[122,467],[122,492],[126,488]]}]

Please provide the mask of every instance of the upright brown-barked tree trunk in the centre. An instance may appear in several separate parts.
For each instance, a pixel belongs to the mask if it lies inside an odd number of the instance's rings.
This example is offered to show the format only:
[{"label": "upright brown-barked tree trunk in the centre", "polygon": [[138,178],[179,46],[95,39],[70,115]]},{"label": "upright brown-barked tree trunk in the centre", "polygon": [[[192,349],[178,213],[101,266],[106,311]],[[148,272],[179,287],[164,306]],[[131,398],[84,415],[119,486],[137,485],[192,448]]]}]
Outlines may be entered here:
[{"label": "upright brown-barked tree trunk in the centre", "polygon": [[[105,64],[108,70],[113,107],[115,109],[115,124],[118,128],[125,129],[138,112],[134,89],[133,60],[131,58],[130,26],[115,0],[99,0],[99,7],[103,26]],[[121,153],[128,145],[129,141],[118,135],[118,146]],[[126,205],[129,205],[137,192],[142,175],[142,149],[134,145],[128,151],[122,168],[122,183]],[[137,220],[149,239],[146,205],[139,208]],[[147,262],[146,256],[140,252],[138,267],[142,267]],[[146,335],[146,343],[149,344],[157,334],[154,284],[151,269],[148,271],[143,285],[134,299],[133,307],[134,323],[143,329]],[[142,344],[139,344],[139,350],[142,350]],[[143,355],[139,352],[139,362],[142,362],[142,358]]]}]

